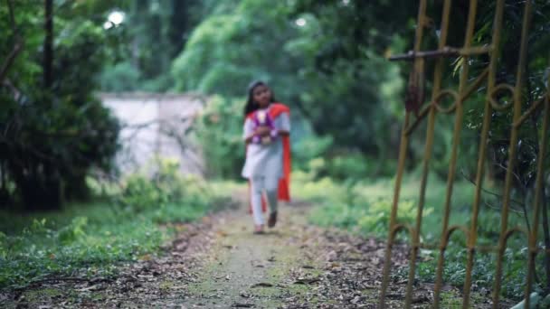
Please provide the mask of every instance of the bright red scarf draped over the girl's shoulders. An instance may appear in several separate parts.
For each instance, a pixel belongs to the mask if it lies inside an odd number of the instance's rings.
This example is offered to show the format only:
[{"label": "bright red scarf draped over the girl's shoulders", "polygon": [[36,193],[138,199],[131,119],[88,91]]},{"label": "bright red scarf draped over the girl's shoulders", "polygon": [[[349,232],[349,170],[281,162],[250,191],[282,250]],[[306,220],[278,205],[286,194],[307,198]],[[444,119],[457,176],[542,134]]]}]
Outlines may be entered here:
[{"label": "bright red scarf draped over the girl's shoulders", "polygon": [[[255,112],[251,112],[246,116],[247,119],[253,119]],[[287,113],[290,117],[290,109],[281,103],[271,103],[268,109],[271,119],[275,120],[281,114]],[[290,137],[280,136],[282,140],[282,177],[279,180],[279,201],[290,201]],[[250,192],[250,181],[249,181]],[[250,193],[249,193],[250,197]],[[261,210],[267,211],[266,201],[262,197]]]}]

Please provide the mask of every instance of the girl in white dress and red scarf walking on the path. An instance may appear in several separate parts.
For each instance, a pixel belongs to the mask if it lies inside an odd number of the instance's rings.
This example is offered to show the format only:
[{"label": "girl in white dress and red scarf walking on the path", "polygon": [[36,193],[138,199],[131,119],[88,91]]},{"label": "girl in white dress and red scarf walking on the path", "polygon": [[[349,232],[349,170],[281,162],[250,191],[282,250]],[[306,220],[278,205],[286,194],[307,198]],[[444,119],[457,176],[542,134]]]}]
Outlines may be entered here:
[{"label": "girl in white dress and red scarf walking on the path", "polygon": [[242,176],[250,183],[254,233],[261,234],[265,201],[262,193],[267,195],[270,208],[270,228],[277,223],[277,201],[290,200],[290,110],[275,102],[267,84],[254,81],[248,89],[244,117],[243,138],[247,147]]}]

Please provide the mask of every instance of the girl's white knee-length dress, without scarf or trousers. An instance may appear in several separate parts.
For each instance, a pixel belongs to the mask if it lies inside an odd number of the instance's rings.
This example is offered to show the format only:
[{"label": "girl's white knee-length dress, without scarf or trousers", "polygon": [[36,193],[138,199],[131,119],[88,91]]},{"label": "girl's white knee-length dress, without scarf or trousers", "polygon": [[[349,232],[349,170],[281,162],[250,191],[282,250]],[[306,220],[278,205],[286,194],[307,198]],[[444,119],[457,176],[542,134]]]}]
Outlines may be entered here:
[{"label": "girl's white knee-length dress, without scarf or trousers", "polygon": [[[267,108],[269,110],[269,108]],[[277,130],[290,132],[290,119],[288,113],[282,113],[273,121]],[[244,122],[243,138],[251,136],[254,132],[254,123],[247,118]],[[268,145],[251,143],[246,149],[246,161],[242,167],[242,177],[256,178],[282,177],[282,141],[280,136]]]}]

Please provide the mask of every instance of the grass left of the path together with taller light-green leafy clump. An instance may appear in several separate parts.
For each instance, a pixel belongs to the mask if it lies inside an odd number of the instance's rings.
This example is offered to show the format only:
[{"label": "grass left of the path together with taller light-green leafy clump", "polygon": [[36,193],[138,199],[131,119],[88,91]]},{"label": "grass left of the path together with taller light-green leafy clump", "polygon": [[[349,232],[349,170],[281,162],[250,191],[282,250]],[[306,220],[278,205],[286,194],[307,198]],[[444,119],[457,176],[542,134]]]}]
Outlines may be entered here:
[{"label": "grass left of the path together with taller light-green leafy clump", "polygon": [[[0,216],[0,288],[49,276],[109,277],[121,262],[147,259],[174,233],[166,223],[203,217],[222,202],[204,181],[161,160],[157,172],[130,175],[114,202],[75,204],[61,212]],[[161,227],[160,224],[165,225]]]}]

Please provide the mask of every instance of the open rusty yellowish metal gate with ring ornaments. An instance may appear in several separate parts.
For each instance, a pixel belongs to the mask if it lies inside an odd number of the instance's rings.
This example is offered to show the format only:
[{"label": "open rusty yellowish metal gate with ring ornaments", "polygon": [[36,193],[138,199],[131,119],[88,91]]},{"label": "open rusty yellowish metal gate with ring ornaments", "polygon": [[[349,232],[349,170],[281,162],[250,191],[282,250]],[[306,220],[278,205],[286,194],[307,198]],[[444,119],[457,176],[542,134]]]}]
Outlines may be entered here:
[{"label": "open rusty yellowish metal gate with ring ornaments", "polygon": [[[438,250],[439,250],[439,259],[438,266],[435,276],[435,285],[434,285],[434,301],[433,307],[440,307],[440,295],[441,287],[443,285],[442,273],[444,267],[445,259],[445,250],[448,246],[450,235],[455,232],[463,232],[464,236],[467,239],[466,250],[467,250],[467,265],[466,265],[466,274],[464,277],[464,286],[463,286],[463,299],[462,306],[464,308],[469,307],[469,298],[470,298],[470,289],[472,281],[472,268],[474,264],[474,257],[476,252],[484,251],[490,252],[495,255],[497,259],[497,267],[495,273],[495,280],[493,286],[493,307],[497,308],[499,303],[499,294],[501,287],[502,272],[503,272],[503,255],[504,251],[507,248],[507,239],[514,233],[519,233],[525,235],[528,239],[528,252],[527,252],[527,277],[526,277],[526,286],[525,286],[525,295],[526,295],[526,308],[529,307],[529,297],[528,295],[532,292],[532,283],[535,269],[535,257],[537,252],[542,251],[542,248],[538,248],[536,245],[537,239],[537,229],[539,225],[539,214],[542,208],[541,201],[541,192],[543,190],[544,180],[544,158],[546,146],[546,138],[548,136],[548,122],[550,118],[550,91],[546,89],[546,93],[543,98],[536,100],[530,108],[524,108],[526,110],[522,111],[524,106],[522,98],[522,89],[525,88],[524,85],[524,75],[526,71],[526,57],[527,57],[527,36],[528,29],[531,23],[532,18],[532,1],[524,1],[523,7],[523,25],[521,30],[521,41],[519,43],[519,54],[518,54],[518,65],[516,69],[516,82],[515,85],[510,85],[506,83],[497,82],[497,69],[498,69],[498,58],[499,58],[499,48],[501,41],[501,29],[503,27],[503,12],[504,12],[504,0],[498,0],[496,4],[496,9],[494,12],[493,20],[493,29],[491,42],[487,46],[473,46],[472,36],[474,35],[474,26],[476,22],[476,14],[478,2],[476,0],[470,0],[469,2],[469,15],[467,19],[466,33],[464,45],[461,48],[452,48],[447,46],[447,35],[449,30],[449,17],[450,17],[450,8],[451,1],[445,0],[442,6],[441,14],[441,33],[439,37],[439,46],[436,51],[422,51],[421,44],[422,38],[424,36],[423,30],[426,23],[430,20],[426,15],[426,5],[427,0],[420,1],[418,19],[417,19],[417,28],[415,33],[415,42],[414,50],[407,54],[399,55],[393,57],[393,60],[411,60],[413,61],[413,72],[423,73],[425,61],[430,61],[434,59],[434,73],[433,73],[433,84],[431,91],[431,100],[430,103],[425,105],[420,112],[417,114],[416,118],[413,117],[411,111],[406,112],[403,123],[403,130],[401,136],[401,145],[400,145],[400,155],[398,159],[398,168],[396,173],[396,182],[394,188],[394,201],[391,212],[390,219],[390,231],[387,239],[387,248],[385,252],[384,259],[384,279],[382,284],[382,290],[379,299],[379,306],[384,307],[385,298],[389,286],[390,280],[390,270],[391,260],[392,260],[392,248],[394,246],[395,236],[397,232],[404,231],[408,233],[411,243],[410,243],[410,257],[409,257],[409,276],[408,283],[406,287],[405,295],[405,304],[406,308],[411,307],[412,304],[412,290],[413,283],[415,278],[415,267],[417,264],[417,258],[419,254],[419,249],[427,246],[424,244],[420,238],[420,231],[422,228],[422,210],[424,207],[424,199],[426,193],[426,184],[429,173],[429,163],[431,160],[431,152],[433,146],[433,136],[434,136],[434,126],[435,126],[435,117],[437,114],[453,114],[454,115],[454,132],[452,139],[452,148],[450,154],[449,162],[449,173],[446,189],[446,197],[444,207],[444,217],[442,220],[442,233],[441,240],[439,241]],[[469,57],[487,54],[490,61],[488,62],[485,70],[482,71],[479,76],[469,82]],[[443,58],[444,57],[462,57],[461,61],[461,70],[460,70],[460,84],[458,90],[454,89],[441,89],[441,80],[443,72]],[[412,77],[414,78],[414,77]],[[547,85],[550,84],[548,80]],[[451,195],[453,189],[454,178],[456,174],[456,165],[457,165],[457,153],[460,143],[460,131],[462,128],[462,119],[464,116],[463,103],[471,96],[475,91],[486,88],[486,99],[484,103],[484,114],[483,114],[483,123],[481,126],[481,131],[479,133],[479,150],[478,150],[478,164],[477,172],[475,177],[475,192],[474,192],[474,201],[471,205],[471,220],[469,226],[450,226],[450,209],[451,209]],[[498,102],[498,97],[502,93],[507,93],[511,96],[510,102],[501,104]],[[441,101],[443,99],[452,99],[453,103],[448,108],[443,108],[441,106]],[[421,102],[422,103],[422,102]],[[489,126],[491,126],[491,113],[494,111],[504,111],[507,108],[512,108],[513,120],[510,123],[510,136],[509,136],[509,146],[508,146],[508,163],[507,163],[507,173],[504,180],[504,187],[502,192],[502,212],[501,212],[501,223],[500,223],[500,233],[498,237],[498,246],[494,247],[481,247],[477,243],[478,238],[478,215],[480,209],[480,197],[483,184],[484,176],[484,164],[486,161],[486,151],[487,151],[487,141],[488,141],[488,131]],[[508,212],[510,210],[510,192],[512,188],[512,177],[513,177],[513,166],[516,163],[517,156],[517,141],[518,141],[518,130],[519,127],[525,122],[526,117],[533,114],[536,110],[541,110],[542,112],[538,115],[543,117],[542,120],[542,134],[539,136],[540,147],[539,153],[537,156],[537,173],[536,173],[536,183],[535,183],[535,198],[533,204],[532,215],[532,226],[531,229],[525,229],[523,227],[508,227]],[[425,145],[424,145],[424,157],[422,161],[422,178],[420,180],[420,195],[418,201],[418,210],[416,223],[414,226],[399,224],[397,222],[397,212],[399,211],[399,196],[400,189],[403,179],[403,170],[406,161],[406,152],[409,146],[410,136],[415,129],[418,129],[421,126],[418,126],[422,121],[427,121],[426,124],[426,136],[425,136]],[[423,127],[423,126],[422,126]]]}]

